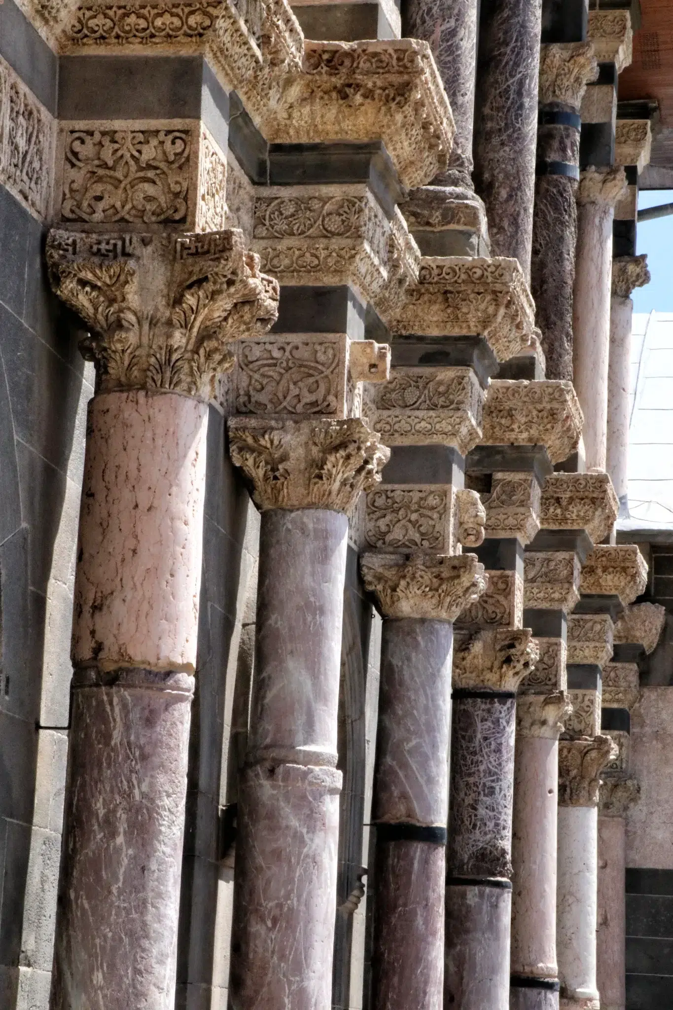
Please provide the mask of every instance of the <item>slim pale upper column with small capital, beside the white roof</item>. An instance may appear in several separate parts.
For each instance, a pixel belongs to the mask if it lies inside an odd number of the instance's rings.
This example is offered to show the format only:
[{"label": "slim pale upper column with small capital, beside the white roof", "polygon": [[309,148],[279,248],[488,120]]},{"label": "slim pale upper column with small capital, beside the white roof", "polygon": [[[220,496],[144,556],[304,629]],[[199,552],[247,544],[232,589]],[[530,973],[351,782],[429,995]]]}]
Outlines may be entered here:
[{"label": "slim pale upper column with small capital, beside the white roof", "polygon": [[631,325],[634,288],[650,283],[647,257],[620,257],[612,261],[612,298],[609,312],[607,365],[606,467],[620,500],[629,514],[629,390],[631,385]]}]

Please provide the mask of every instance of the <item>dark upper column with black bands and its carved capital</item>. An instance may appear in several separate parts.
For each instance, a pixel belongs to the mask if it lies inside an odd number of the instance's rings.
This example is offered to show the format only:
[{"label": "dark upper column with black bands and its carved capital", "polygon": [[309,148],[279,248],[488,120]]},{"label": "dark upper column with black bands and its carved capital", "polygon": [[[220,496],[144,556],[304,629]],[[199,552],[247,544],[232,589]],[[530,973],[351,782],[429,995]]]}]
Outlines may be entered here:
[{"label": "dark upper column with black bands and its carved capital", "polygon": [[548,379],[572,381],[579,108],[597,74],[589,42],[541,46],[531,293]]}]

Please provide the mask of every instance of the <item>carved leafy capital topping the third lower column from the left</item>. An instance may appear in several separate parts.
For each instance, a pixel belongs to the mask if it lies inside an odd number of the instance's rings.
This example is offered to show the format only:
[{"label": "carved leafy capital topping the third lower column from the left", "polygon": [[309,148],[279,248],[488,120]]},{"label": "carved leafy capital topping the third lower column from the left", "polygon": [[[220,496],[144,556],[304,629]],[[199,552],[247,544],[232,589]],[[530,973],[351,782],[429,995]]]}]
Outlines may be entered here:
[{"label": "carved leafy capital topping the third lower column from the left", "polygon": [[476,554],[366,553],[360,572],[383,617],[454,621],[485,587]]}]

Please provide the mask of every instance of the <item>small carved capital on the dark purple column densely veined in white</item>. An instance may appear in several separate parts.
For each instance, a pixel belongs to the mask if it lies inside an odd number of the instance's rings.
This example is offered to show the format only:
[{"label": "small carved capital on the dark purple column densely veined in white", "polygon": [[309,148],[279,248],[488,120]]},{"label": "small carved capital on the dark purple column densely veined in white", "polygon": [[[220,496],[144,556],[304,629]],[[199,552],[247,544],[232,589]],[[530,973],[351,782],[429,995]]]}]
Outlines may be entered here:
[{"label": "small carved capital on the dark purple column densely veined in white", "polygon": [[456,631],[453,687],[516,691],[537,659],[538,646],[529,628]]}]

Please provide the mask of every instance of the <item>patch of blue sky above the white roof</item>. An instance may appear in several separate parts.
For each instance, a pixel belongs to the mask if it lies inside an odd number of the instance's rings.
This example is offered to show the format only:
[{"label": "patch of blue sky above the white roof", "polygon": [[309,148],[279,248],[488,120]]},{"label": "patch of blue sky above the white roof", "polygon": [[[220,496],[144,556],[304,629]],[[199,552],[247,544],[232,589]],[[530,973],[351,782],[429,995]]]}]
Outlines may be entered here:
[{"label": "patch of blue sky above the white roof", "polygon": [[[643,190],[638,206],[673,203],[673,190]],[[652,280],[632,294],[634,312],[673,312],[673,215],[638,225],[637,251],[647,252]]]}]

